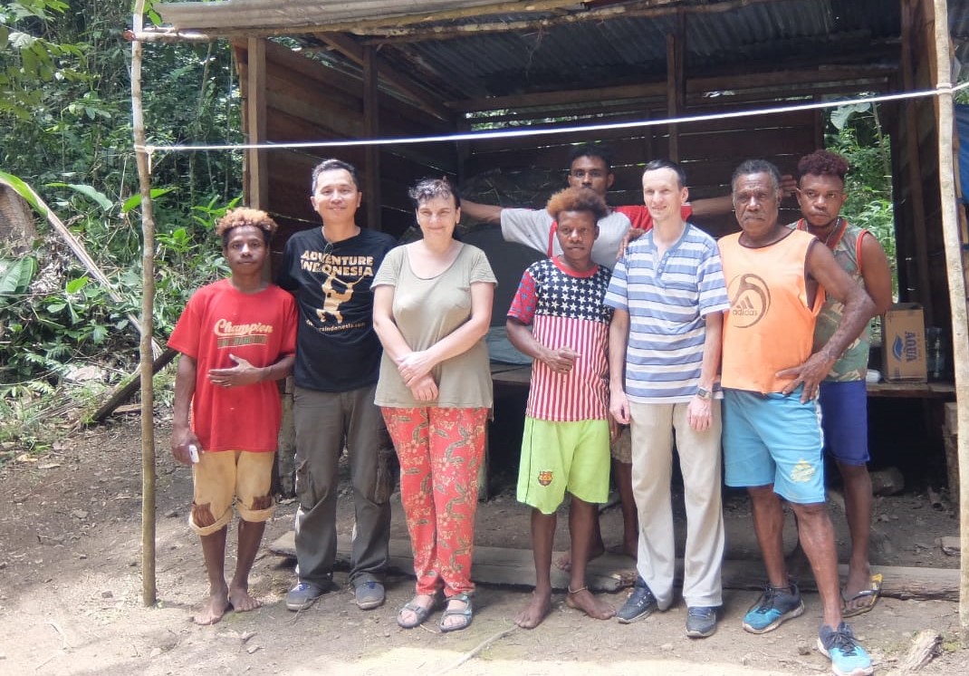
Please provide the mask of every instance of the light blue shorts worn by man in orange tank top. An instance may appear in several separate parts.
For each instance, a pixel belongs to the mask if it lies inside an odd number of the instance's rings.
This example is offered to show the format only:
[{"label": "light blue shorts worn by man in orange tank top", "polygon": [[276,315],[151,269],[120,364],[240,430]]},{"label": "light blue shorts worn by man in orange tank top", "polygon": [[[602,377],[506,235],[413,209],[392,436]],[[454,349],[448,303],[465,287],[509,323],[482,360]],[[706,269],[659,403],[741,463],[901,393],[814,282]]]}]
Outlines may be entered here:
[{"label": "light blue shorts worn by man in orange tank top", "polygon": [[724,390],[723,445],[728,486],[773,484],[789,502],[825,501],[820,409],[800,402],[801,390],[784,396]]}]

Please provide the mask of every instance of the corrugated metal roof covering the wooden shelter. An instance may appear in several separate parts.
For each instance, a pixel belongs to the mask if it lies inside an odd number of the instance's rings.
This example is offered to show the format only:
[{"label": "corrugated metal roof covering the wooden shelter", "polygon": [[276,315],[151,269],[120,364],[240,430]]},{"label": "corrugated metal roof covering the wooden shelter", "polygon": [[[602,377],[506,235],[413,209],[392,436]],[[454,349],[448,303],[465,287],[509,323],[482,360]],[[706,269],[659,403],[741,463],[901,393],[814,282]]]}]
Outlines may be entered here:
[{"label": "corrugated metal roof covering the wooden shelter", "polygon": [[[708,11],[718,4],[732,9]],[[969,38],[969,0],[951,0],[949,6],[953,35]],[[443,99],[663,81],[666,40],[675,31],[676,16],[634,16],[634,10],[685,11],[688,77],[774,71],[805,63],[871,65],[872,59],[891,66],[897,63],[901,36],[901,0],[534,0],[522,3],[524,11],[493,14],[498,7],[496,0],[225,0],[156,6],[181,30],[227,34],[251,28],[266,34],[286,27],[281,32],[306,44],[319,44],[315,33],[353,22],[344,26],[345,33],[361,43],[380,45],[384,59],[402,66]],[[485,16],[441,14],[474,8]],[[590,9],[627,13],[562,22],[563,16],[585,16]],[[401,16],[411,19],[392,19]],[[489,30],[454,33],[456,27],[475,24],[486,24]],[[499,30],[498,24],[525,27]],[[431,28],[446,33],[434,35],[428,32]],[[819,54],[824,58],[819,60]],[[334,53],[333,58],[342,56]]]}]

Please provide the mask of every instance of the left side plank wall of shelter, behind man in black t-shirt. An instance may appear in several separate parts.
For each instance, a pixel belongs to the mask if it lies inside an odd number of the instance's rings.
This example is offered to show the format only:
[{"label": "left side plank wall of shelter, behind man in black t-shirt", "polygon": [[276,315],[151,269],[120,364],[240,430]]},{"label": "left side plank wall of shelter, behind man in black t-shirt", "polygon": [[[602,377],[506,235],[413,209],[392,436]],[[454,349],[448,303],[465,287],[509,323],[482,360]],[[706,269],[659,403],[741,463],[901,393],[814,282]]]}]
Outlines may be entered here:
[{"label": "left side plank wall of shelter, behind man in black t-shirt", "polygon": [[[248,96],[245,42],[235,43],[234,53],[245,98]],[[363,128],[361,80],[272,42],[266,42],[265,98],[268,142],[313,142],[367,136]],[[379,110],[381,137],[427,136],[453,129],[452,121],[436,119],[383,91],[380,92]],[[282,250],[291,233],[319,224],[309,197],[310,175],[321,160],[338,157],[357,167],[361,181],[365,176],[366,151],[363,146],[262,152],[266,153],[270,181],[266,209],[277,218],[281,230],[281,236],[273,241],[275,253]],[[450,144],[385,145],[381,147],[380,165],[383,201],[380,223],[367,223],[366,209],[362,208],[358,212],[358,222],[399,236],[413,223],[407,188],[421,177],[454,175],[456,150]]]}]

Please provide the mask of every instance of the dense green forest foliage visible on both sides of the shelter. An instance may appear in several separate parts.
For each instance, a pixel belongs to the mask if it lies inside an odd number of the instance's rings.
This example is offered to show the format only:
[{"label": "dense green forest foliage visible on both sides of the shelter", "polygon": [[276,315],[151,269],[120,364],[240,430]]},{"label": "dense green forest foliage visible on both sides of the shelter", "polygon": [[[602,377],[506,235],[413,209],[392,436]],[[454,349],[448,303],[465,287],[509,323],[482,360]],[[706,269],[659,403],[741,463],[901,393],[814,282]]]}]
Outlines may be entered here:
[{"label": "dense green forest foliage visible on both sides of the shelter", "polygon": [[[148,3],[147,19],[157,21]],[[107,274],[118,304],[37,218],[27,251],[0,241],[0,467],[83,422],[138,362],[141,211],[123,38],[131,14],[112,0],[0,0],[0,172],[31,186]],[[243,141],[232,49],[144,49],[148,141]],[[894,262],[890,145],[877,108],[828,113],[828,148],[852,164],[845,214]],[[212,227],[241,199],[241,153],[167,153],[152,167],[157,221],[156,335],[164,342],[192,291],[226,273]],[[157,376],[159,403],[172,374]]]}]

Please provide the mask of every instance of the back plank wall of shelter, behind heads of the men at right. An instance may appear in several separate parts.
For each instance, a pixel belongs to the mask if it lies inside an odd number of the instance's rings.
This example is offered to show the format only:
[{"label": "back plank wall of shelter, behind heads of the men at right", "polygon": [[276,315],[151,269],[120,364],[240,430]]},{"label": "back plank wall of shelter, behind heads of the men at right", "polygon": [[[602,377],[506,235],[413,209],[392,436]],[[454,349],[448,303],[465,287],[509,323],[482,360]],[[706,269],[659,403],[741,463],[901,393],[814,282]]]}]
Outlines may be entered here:
[{"label": "back plank wall of shelter, behind heads of the men at right", "polygon": [[[810,100],[810,99],[807,99]],[[773,101],[744,100],[732,104],[718,101],[715,105],[687,102],[685,115],[714,111],[750,110],[776,105]],[[478,113],[480,119],[491,124],[530,124],[534,129],[573,126],[580,124],[641,121],[667,117],[662,100],[596,101],[572,106],[563,105],[557,113],[547,110],[518,109],[500,114]],[[547,122],[553,114],[567,116],[563,122]],[[818,113],[784,113],[737,117],[678,125],[679,161],[687,173],[692,199],[719,197],[730,192],[730,178],[744,159],[768,159],[782,173],[793,173],[797,158],[817,147],[816,125]],[[615,182],[609,200],[614,205],[641,204],[642,166],[652,158],[669,157],[668,125],[637,127],[600,133],[522,137],[487,140],[467,144],[461,165],[461,178],[500,168],[515,171],[539,167],[562,172],[563,186],[568,170],[569,152],[573,145],[602,141],[610,145],[613,154]],[[538,206],[538,205],[504,205]],[[783,218],[797,217],[797,205],[785,203]],[[716,236],[733,232],[733,215],[698,222]]]}]

